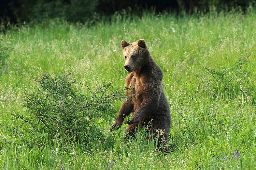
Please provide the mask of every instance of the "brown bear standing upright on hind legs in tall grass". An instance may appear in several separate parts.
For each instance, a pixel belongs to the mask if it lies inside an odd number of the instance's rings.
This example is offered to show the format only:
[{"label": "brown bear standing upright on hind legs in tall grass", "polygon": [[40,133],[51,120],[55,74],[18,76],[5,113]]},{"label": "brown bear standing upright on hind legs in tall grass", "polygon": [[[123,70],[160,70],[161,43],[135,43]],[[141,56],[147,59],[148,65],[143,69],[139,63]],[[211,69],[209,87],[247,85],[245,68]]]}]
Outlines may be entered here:
[{"label": "brown bear standing upright on hind legs in tall grass", "polygon": [[130,87],[126,95],[130,97],[122,104],[110,130],[117,130],[132,112],[132,119],[125,122],[130,125],[126,133],[135,137],[136,128],[147,128],[150,138],[157,138],[157,145],[164,147],[170,132],[171,114],[163,92],[163,73],[143,39],[131,44],[122,40],[121,45],[125,57],[124,68],[130,73],[125,80],[126,86]]}]

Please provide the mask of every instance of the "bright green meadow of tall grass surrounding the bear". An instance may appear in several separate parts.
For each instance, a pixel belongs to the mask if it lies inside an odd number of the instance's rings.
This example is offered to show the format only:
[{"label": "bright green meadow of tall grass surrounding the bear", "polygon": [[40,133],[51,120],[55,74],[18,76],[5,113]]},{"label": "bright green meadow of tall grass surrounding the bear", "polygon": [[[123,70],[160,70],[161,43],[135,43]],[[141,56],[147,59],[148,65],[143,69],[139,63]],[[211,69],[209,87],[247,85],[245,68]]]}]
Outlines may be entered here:
[{"label": "bright green meadow of tall grass surrounding the bear", "polygon": [[[91,27],[58,19],[10,26],[0,33],[0,168],[256,169],[255,18],[249,7],[246,13],[212,9],[192,16],[123,13]],[[27,114],[23,92],[33,92],[37,84],[31,76],[45,70],[54,78],[70,72],[92,90],[104,82],[124,89],[123,39],[144,39],[163,71],[172,152],[155,152],[143,130],[128,141],[127,125],[110,132],[115,114],[95,118],[104,139],[86,145],[75,140],[63,145],[43,130],[32,135],[13,116]],[[246,62],[239,60],[247,56]],[[114,109],[121,104],[114,102]]]}]

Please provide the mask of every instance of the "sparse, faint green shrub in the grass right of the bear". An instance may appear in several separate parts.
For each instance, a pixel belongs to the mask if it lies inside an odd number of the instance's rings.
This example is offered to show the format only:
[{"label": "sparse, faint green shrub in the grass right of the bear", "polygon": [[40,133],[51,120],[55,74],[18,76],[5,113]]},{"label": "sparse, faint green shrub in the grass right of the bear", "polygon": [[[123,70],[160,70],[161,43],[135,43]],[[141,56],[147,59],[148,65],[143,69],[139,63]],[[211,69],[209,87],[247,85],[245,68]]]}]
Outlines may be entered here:
[{"label": "sparse, faint green shrub in the grass right of the bear", "polygon": [[[251,55],[251,54],[250,54]],[[204,66],[204,70],[195,74],[198,78],[196,91],[209,94],[225,94],[227,96],[240,95],[249,92],[246,88],[250,72],[244,69],[248,57],[242,56],[231,68],[217,69],[216,67]],[[189,73],[190,74],[190,73]]]}]

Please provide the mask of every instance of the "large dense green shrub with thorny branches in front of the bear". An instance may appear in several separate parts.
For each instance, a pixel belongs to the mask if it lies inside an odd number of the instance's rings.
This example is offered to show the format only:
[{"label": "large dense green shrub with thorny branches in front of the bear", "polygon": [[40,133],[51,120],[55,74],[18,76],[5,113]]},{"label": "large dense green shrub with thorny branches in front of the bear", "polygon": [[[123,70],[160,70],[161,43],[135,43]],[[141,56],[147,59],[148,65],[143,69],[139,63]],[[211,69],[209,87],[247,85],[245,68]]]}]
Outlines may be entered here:
[{"label": "large dense green shrub with thorny branches in front of the bear", "polygon": [[[97,131],[94,120],[101,118],[103,113],[114,113],[112,102],[125,99],[123,90],[110,90],[111,83],[105,83],[96,91],[91,91],[88,86],[74,81],[69,81],[65,73],[63,78],[53,79],[45,72],[34,82],[39,83],[34,87],[35,92],[24,92],[23,107],[26,114],[15,113],[22,124],[28,124],[34,134],[44,131],[50,135],[57,134],[59,138],[90,137]],[[74,88],[74,85],[80,88]],[[90,92],[86,96],[82,89]]]}]

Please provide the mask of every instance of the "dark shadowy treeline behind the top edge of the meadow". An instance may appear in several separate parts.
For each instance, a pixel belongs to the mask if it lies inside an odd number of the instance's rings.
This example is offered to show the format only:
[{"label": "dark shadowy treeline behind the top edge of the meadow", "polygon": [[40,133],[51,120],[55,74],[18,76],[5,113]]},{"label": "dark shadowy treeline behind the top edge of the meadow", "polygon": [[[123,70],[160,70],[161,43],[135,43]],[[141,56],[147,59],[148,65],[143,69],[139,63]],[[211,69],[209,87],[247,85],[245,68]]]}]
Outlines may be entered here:
[{"label": "dark shadowy treeline behind the top edge of the meadow", "polygon": [[126,10],[140,14],[143,10],[156,13],[186,11],[207,13],[211,6],[217,11],[232,8],[244,11],[253,0],[4,0],[0,5],[1,28],[9,23],[42,22],[60,18],[69,22],[95,21]]}]

